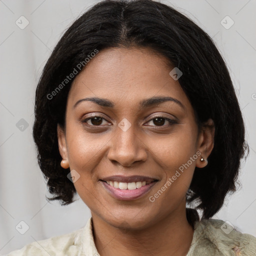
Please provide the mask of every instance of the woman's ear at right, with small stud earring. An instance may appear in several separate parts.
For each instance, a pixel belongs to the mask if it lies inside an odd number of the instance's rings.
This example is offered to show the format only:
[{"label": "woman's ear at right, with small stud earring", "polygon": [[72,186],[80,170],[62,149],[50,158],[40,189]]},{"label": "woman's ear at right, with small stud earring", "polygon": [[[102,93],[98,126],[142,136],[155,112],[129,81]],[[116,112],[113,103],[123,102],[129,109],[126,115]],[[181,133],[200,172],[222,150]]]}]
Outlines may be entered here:
[{"label": "woman's ear at right, with small stud earring", "polygon": [[[202,168],[207,165],[207,158],[210,155],[214,146],[214,134],[214,122],[212,119],[208,119],[206,122],[203,123],[201,130],[199,131],[197,150],[200,151],[201,154],[196,160],[196,167]],[[205,160],[201,161],[201,158],[204,158]]]}]

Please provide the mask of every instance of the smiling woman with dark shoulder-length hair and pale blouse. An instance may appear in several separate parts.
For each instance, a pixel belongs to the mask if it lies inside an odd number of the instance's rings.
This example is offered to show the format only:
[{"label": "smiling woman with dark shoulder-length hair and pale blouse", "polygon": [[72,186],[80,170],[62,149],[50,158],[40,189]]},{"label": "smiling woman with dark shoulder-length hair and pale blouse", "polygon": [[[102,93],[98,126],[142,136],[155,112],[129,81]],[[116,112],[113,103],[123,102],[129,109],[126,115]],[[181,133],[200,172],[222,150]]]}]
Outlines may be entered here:
[{"label": "smiling woman with dark shoulder-length hair and pale blouse", "polygon": [[228,70],[171,7],[106,0],[79,17],[43,69],[33,138],[48,199],[77,192],[92,217],[9,256],[255,255],[255,237],[210,218],[247,149]]}]

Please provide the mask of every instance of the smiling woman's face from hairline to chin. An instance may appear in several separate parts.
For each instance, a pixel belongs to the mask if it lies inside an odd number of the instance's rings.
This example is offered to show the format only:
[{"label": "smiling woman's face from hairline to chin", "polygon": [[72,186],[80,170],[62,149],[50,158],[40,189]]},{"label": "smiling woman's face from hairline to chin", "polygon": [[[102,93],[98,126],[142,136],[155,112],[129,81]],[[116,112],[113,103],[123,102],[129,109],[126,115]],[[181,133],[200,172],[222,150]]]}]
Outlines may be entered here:
[{"label": "smiling woman's face from hairline to chin", "polygon": [[113,226],[180,217],[194,168],[205,166],[205,135],[172,69],[146,48],[110,48],[72,83],[59,150],[81,199]]}]

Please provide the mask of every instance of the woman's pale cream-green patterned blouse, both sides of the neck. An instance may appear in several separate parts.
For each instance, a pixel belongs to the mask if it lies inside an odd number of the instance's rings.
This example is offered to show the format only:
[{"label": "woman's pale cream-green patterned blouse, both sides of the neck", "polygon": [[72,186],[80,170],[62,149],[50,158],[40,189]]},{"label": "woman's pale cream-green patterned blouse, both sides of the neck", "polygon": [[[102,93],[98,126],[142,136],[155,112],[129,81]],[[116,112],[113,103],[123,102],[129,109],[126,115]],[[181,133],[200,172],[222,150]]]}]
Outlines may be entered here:
[{"label": "woman's pale cream-green patterned blouse, both sides of the neck", "polygon": [[[35,241],[7,256],[100,256],[94,244],[91,217],[71,233]],[[219,219],[194,223],[186,256],[256,256],[256,237],[241,233]]]}]

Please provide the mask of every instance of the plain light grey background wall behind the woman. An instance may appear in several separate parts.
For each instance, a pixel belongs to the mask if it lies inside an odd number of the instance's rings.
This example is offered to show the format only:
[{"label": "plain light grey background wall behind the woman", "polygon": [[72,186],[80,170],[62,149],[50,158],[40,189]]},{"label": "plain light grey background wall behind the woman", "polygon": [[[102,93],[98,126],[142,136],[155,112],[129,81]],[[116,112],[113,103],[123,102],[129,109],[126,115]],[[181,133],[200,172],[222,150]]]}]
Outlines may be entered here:
[{"label": "plain light grey background wall behind the woman", "polygon": [[[49,193],[36,161],[32,124],[36,84],[51,50],[68,25],[95,2],[0,0],[0,254],[76,230],[90,216],[79,197],[68,206],[45,199]],[[213,218],[228,220],[241,232],[256,236],[256,1],[161,2],[189,16],[213,37],[230,70],[250,155],[242,162],[242,187],[226,198]],[[15,24],[21,15],[29,21],[24,29]],[[234,21],[229,29],[220,23],[226,15]],[[28,123],[23,131],[16,126],[21,118]],[[21,220],[29,226],[23,235],[15,229]]]}]

